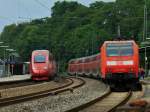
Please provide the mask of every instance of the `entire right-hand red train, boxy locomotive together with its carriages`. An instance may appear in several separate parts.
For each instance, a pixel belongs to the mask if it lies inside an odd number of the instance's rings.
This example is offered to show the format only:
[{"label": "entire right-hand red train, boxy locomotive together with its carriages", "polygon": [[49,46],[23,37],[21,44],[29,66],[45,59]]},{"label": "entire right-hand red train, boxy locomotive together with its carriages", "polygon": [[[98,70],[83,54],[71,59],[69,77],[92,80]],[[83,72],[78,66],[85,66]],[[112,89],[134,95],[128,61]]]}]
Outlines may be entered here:
[{"label": "entire right-hand red train, boxy locomotive together with its carriages", "polygon": [[139,48],[135,41],[105,41],[100,53],[72,59],[68,72],[72,75],[100,77],[111,87],[139,82]]}]

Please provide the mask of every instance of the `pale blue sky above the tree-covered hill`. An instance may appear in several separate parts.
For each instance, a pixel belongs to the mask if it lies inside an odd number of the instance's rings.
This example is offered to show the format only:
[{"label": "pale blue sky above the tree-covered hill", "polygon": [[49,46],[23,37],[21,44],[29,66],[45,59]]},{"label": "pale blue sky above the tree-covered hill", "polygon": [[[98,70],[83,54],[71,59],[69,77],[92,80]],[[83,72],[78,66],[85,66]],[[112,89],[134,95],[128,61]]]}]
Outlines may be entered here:
[{"label": "pale blue sky above the tree-covered hill", "polygon": [[[0,32],[2,32],[5,25],[30,21],[37,18],[50,17],[51,7],[56,1],[58,0],[0,0]],[[115,0],[76,1],[88,6],[95,1],[110,2]]]}]

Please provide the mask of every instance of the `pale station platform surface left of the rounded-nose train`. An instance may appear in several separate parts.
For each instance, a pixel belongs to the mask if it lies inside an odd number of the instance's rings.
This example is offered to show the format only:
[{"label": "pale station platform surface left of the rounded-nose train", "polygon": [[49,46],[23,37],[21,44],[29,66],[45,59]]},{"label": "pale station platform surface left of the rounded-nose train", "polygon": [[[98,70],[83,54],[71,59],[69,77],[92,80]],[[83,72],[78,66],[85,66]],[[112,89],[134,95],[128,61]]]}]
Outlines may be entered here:
[{"label": "pale station platform surface left of the rounded-nose train", "polygon": [[23,80],[30,80],[31,75],[26,74],[26,75],[12,75],[8,77],[1,77],[0,78],[0,83],[5,83],[5,82],[16,82],[16,81],[23,81]]}]

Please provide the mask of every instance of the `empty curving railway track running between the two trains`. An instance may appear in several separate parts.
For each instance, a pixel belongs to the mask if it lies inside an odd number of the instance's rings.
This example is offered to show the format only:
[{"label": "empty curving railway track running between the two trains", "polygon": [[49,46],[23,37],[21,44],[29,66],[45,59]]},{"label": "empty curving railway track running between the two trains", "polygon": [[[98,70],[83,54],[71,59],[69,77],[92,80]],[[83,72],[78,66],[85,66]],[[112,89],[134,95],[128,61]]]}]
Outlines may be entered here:
[{"label": "empty curving railway track running between the two trains", "polygon": [[51,88],[49,90],[39,91],[36,93],[24,94],[24,95],[19,95],[19,96],[14,96],[14,97],[7,97],[7,98],[1,97],[0,107],[11,105],[14,103],[24,102],[27,100],[42,98],[42,97],[46,97],[49,95],[62,93],[64,91],[73,91],[73,89],[85,84],[85,81],[82,78],[71,77],[71,78],[67,78],[67,80],[69,81],[69,83],[63,84],[63,85],[60,84],[58,87]]}]

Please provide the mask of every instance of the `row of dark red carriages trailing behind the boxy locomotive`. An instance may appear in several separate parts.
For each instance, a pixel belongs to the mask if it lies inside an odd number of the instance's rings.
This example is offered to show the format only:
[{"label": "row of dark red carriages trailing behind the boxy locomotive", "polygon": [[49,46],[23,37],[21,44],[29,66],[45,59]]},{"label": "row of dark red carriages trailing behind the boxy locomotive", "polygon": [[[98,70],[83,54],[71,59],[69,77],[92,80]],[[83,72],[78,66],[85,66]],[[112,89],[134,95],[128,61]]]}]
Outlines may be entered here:
[{"label": "row of dark red carriages trailing behind the boxy locomotive", "polygon": [[68,63],[69,74],[86,76],[99,76],[100,54],[72,59]]}]

